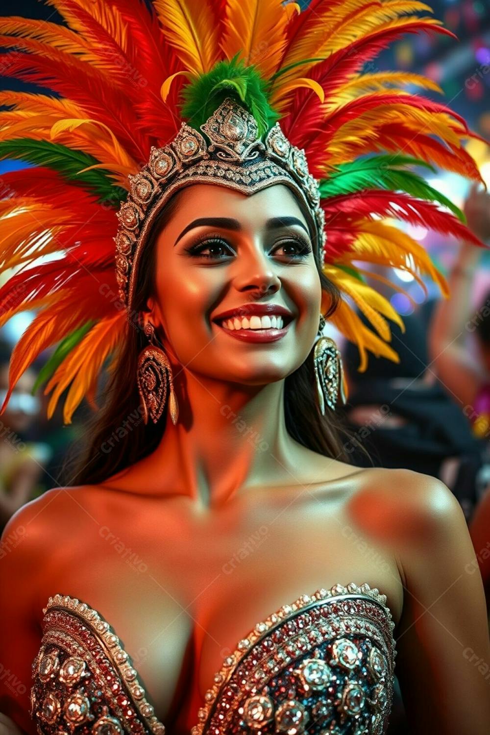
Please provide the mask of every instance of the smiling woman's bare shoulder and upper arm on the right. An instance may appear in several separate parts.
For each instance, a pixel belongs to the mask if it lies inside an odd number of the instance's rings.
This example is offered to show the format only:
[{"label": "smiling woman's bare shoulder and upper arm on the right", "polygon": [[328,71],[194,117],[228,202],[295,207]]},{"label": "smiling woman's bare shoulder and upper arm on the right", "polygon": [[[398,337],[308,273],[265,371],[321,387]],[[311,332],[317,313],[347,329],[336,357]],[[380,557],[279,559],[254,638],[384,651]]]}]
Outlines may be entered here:
[{"label": "smiling woman's bare shoulder and upper arm on the right", "polygon": [[447,487],[404,470],[397,675],[417,735],[489,735],[490,641],[464,515]]}]

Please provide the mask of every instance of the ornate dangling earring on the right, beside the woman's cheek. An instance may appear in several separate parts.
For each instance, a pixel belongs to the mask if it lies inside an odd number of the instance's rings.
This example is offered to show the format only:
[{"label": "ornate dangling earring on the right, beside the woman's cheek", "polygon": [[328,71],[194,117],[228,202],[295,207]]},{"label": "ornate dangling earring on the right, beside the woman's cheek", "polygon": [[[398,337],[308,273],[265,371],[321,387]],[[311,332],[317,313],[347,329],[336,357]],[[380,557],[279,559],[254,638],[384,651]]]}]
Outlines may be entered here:
[{"label": "ornate dangling earring on the right, beside the woman's cheek", "polygon": [[[323,332],[325,319],[320,315],[319,333]],[[320,337],[314,345],[314,375],[317,381],[317,396],[320,412],[325,416],[325,401],[329,408],[335,410],[339,395],[345,404],[344,370],[342,357],[331,337]]]}]

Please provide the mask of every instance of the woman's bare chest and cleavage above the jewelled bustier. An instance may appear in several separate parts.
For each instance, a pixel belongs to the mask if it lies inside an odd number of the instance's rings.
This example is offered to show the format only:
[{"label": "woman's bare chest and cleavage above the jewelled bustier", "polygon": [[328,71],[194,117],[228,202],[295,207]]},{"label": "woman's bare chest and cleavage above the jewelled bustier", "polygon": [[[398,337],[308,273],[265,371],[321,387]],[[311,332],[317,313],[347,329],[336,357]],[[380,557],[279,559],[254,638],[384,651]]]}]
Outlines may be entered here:
[{"label": "woman's bare chest and cleavage above the jewelled bustier", "polygon": [[182,518],[179,534],[163,522],[157,533],[150,517],[136,527],[113,519],[46,578],[46,599],[71,595],[109,623],[170,732],[196,725],[237,643],[300,595],[367,582],[388,595],[392,609],[400,606],[396,566],[359,534],[311,507],[270,510],[251,514],[249,523],[242,514],[235,527],[231,518],[206,529]]}]

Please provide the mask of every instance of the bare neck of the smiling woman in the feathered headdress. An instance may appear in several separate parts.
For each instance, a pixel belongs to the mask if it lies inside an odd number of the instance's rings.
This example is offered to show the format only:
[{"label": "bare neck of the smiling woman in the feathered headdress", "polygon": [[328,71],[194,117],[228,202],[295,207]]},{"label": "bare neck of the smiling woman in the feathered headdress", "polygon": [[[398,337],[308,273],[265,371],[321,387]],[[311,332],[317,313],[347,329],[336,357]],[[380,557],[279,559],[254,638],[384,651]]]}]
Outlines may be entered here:
[{"label": "bare neck of the smiling woman in the feathered headdress", "polygon": [[145,492],[184,495],[212,509],[244,487],[300,482],[306,450],[286,429],[284,380],[244,389],[188,372],[186,378],[176,426],[167,415],[159,445],[124,473],[125,484],[137,490],[144,474]]}]

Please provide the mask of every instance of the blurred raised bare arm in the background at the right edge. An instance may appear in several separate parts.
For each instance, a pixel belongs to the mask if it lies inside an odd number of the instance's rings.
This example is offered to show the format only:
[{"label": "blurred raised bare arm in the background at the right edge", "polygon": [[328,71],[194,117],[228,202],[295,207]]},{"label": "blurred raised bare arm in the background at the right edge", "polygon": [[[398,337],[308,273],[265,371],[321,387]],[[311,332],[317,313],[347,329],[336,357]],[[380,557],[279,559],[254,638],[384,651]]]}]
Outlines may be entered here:
[{"label": "blurred raised bare arm in the background at the right edge", "polygon": [[[480,239],[490,235],[490,195],[475,185],[465,202],[468,226]],[[437,304],[429,331],[430,359],[443,384],[461,403],[471,405],[486,373],[478,359],[469,355],[466,338],[475,331],[472,323],[472,291],[480,248],[461,243],[449,275],[450,298]]]}]

